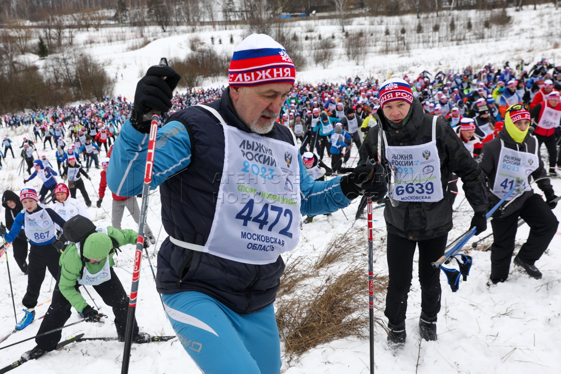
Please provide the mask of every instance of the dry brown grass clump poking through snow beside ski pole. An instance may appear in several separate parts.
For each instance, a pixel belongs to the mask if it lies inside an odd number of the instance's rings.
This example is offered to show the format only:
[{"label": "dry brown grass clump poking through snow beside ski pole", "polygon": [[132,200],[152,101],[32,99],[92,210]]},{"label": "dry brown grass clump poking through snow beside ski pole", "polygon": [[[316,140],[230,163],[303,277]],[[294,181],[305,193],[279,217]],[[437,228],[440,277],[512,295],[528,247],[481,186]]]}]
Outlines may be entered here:
[{"label": "dry brown grass clump poking through snow beside ski pole", "polygon": [[[288,361],[318,344],[364,336],[368,325],[365,236],[364,229],[351,228],[334,236],[316,260],[301,256],[289,261],[276,302]],[[376,243],[378,252],[380,237]],[[387,284],[387,275],[375,275],[374,305],[385,300]],[[375,322],[384,328],[379,317]]]}]

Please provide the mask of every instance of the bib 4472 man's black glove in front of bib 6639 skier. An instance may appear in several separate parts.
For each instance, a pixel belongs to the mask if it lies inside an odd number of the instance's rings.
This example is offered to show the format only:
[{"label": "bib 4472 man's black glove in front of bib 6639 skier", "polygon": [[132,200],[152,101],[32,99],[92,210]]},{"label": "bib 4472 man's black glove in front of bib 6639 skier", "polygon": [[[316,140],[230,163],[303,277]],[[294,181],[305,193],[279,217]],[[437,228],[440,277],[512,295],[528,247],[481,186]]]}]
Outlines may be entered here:
[{"label": "bib 4472 man's black glove in front of bib 6639 skier", "polygon": [[370,195],[373,201],[381,201],[388,192],[388,185],[384,177],[384,168],[376,163],[374,173],[371,166],[360,165],[355,167],[351,174],[341,178],[341,190],[348,199],[356,199],[358,195]]}]

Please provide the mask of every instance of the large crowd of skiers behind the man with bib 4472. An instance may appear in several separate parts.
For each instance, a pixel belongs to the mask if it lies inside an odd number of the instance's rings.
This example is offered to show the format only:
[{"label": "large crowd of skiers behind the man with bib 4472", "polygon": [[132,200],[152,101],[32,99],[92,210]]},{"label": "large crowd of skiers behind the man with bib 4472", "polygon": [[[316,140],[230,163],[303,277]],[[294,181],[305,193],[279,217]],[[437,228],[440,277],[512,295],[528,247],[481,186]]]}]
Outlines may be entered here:
[{"label": "large crowd of skiers behind the man with bib 4472", "polygon": [[[192,88],[185,94],[176,94],[164,119],[169,115],[171,121],[181,118],[182,110],[195,104],[228,101],[223,93],[231,92],[231,87]],[[557,196],[546,176],[557,176],[556,170],[561,166],[561,154],[557,150],[561,121],[559,91],[561,66],[552,66],[542,59],[529,72],[523,62],[516,67],[507,62],[502,68],[488,64],[479,71],[471,67],[457,73],[424,71],[415,79],[405,76],[383,83],[356,77],[341,84],[297,84],[287,95],[277,122],[289,127],[295,135],[294,145],[300,150],[305,175],[311,181],[325,181],[327,176],[348,172],[353,165],[376,160],[381,164],[380,170],[383,169],[379,171],[384,177],[383,184],[389,183],[387,198],[380,198],[378,203],[386,204],[390,274],[385,315],[392,347],[403,347],[406,339],[406,300],[417,245],[422,289],[420,332],[426,340],[436,339],[441,291],[438,270],[431,262],[443,254],[447,244],[458,178],[474,211],[471,226],[478,233],[486,229],[485,213],[489,208],[514,184],[521,184],[519,195],[507,199],[516,202],[508,209],[500,209],[491,221],[494,245],[490,280],[496,284],[508,277],[519,218],[528,223],[531,231],[514,264],[531,277],[541,278],[535,262],[547,249],[558,225],[551,212]],[[111,190],[112,226],[96,228],[88,219],[91,199],[82,177],[90,179],[90,166],[98,169],[101,163],[96,202],[100,208],[109,180],[112,141],[133,109],[131,102],[119,96],[91,105],[4,116],[3,123],[8,129],[19,126],[30,129],[29,138],[25,137],[20,146],[20,172],[25,162],[29,174],[24,183],[36,176],[43,181],[40,191],[24,188],[17,194],[7,190],[2,197],[6,227],[0,226],[0,235],[13,247],[21,271],[28,274],[22,300],[25,314],[16,330],[34,320],[39,289],[48,269],[56,279],[56,286],[39,332],[62,326],[70,316],[71,306],[86,320],[99,321],[103,315],[89,306],[77,291],[80,285],[89,285],[113,307],[118,337],[124,339],[128,299],[111,267],[119,246],[136,241],[136,232],[121,230],[124,209],[131,212],[136,222],[140,209],[135,194],[122,197]],[[43,151],[47,143],[53,151],[56,148],[57,167],[47,157],[39,157],[41,142]],[[548,166],[540,157],[542,143],[549,153]],[[358,152],[351,160],[353,145]],[[2,146],[2,157],[7,157],[8,151],[15,157],[7,135]],[[99,162],[102,147],[107,157]],[[326,156],[330,162],[324,161]],[[409,162],[412,160],[420,162]],[[416,183],[415,177],[419,175],[426,178]],[[57,177],[67,184],[60,183]],[[532,191],[534,181],[544,192],[545,200]],[[84,202],[76,199],[77,189]],[[364,195],[364,190],[359,193],[360,188],[357,190],[356,186],[346,191],[351,191],[346,194],[349,199]],[[357,219],[364,218],[365,203],[366,195],[358,205]],[[319,214],[329,215],[333,209]],[[304,222],[314,222],[314,214],[310,212]],[[80,230],[84,231],[80,237],[67,235],[69,231]],[[183,243],[182,240],[177,242]],[[146,245],[150,242],[154,243],[154,236],[147,228]],[[166,245],[171,245],[170,241]],[[164,300],[173,303],[169,295]],[[54,349],[60,338],[59,331],[37,339],[38,345],[29,352],[29,357],[40,357]],[[135,341],[141,343],[148,339],[135,325]]]}]

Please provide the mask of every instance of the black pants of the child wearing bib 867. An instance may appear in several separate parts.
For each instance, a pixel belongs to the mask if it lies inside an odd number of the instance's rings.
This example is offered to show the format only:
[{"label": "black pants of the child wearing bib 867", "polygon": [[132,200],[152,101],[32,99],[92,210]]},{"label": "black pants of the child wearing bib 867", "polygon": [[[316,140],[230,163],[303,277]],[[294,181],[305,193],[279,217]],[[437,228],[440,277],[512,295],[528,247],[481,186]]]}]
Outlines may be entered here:
[{"label": "black pants of the child wearing bib 867", "polygon": [[50,275],[55,279],[58,274],[58,259],[61,254],[51,244],[31,244],[29,250],[29,274],[27,275],[27,292],[22,304],[26,308],[34,308],[37,305],[39,291],[45,279],[45,270],[48,268]]}]

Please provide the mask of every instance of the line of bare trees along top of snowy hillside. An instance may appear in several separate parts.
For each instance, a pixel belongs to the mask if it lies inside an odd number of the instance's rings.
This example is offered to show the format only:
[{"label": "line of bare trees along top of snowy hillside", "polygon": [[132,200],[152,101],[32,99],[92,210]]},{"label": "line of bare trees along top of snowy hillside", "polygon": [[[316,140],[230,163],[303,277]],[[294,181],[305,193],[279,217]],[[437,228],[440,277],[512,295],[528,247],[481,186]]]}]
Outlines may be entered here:
[{"label": "line of bare trees along top of snowy hillside", "polygon": [[[364,10],[370,15],[400,15],[404,13],[438,12],[439,10],[496,9],[516,6],[536,6],[557,0],[2,0],[0,21],[44,20],[49,15],[74,15],[78,25],[99,25],[104,19],[131,26],[157,22],[163,29],[176,24],[195,22],[250,21],[256,13],[265,11],[267,18],[282,14],[332,12],[342,20],[348,12]],[[94,13],[105,10],[100,20]],[[81,18],[81,19],[80,19]],[[344,22],[344,21],[343,21]],[[344,25],[343,25],[344,27]]]}]

